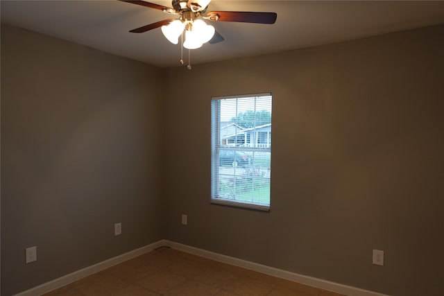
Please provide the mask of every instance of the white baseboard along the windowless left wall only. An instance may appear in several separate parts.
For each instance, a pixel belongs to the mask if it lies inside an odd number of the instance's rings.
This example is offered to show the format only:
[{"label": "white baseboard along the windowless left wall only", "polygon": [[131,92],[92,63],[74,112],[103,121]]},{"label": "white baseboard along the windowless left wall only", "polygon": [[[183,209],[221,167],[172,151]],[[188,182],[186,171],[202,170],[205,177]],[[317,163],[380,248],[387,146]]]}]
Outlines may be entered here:
[{"label": "white baseboard along the windowless left wall only", "polygon": [[66,286],[67,284],[71,284],[72,282],[77,281],[78,279],[82,279],[83,277],[87,277],[88,275],[92,275],[106,268],[110,268],[113,265],[122,263],[129,259],[133,259],[134,257],[151,252],[157,247],[162,247],[162,245],[165,245],[164,241],[157,241],[155,243],[151,243],[150,245],[139,247],[139,249],[130,251],[125,254],[121,254],[119,256],[115,256],[111,259],[88,266],[87,268],[77,270],[75,272],[70,273],[69,275],[59,277],[58,279],[54,279],[53,281],[48,281],[40,286],[31,288],[22,293],[18,293],[15,296],[35,296],[51,292],[52,290],[56,290],[57,288]]}]

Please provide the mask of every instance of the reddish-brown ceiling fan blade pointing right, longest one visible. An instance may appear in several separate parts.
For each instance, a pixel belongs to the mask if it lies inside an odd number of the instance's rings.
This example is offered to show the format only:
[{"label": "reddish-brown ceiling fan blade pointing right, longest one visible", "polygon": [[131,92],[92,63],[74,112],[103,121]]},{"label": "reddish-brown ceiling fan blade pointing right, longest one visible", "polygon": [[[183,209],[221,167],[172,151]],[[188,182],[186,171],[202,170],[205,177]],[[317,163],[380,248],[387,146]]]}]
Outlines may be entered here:
[{"label": "reddish-brown ceiling fan blade pointing right, longest one visible", "polygon": [[240,23],[274,24],[278,18],[275,12],[212,11],[206,17],[212,21],[235,21]]}]

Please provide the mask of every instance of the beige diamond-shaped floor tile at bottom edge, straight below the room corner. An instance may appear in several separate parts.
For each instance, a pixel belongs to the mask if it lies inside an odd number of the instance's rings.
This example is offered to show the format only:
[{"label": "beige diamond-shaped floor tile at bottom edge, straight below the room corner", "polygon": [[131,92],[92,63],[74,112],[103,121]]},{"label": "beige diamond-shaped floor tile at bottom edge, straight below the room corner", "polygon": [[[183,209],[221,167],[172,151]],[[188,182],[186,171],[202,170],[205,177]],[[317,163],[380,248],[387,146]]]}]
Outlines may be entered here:
[{"label": "beige diamond-shaped floor tile at bottom edge, straight below the room corner", "polygon": [[171,272],[160,270],[159,272],[153,272],[147,275],[140,281],[137,281],[137,285],[153,290],[154,292],[164,294],[168,290],[175,288],[182,284],[187,278],[181,275],[175,275]]}]

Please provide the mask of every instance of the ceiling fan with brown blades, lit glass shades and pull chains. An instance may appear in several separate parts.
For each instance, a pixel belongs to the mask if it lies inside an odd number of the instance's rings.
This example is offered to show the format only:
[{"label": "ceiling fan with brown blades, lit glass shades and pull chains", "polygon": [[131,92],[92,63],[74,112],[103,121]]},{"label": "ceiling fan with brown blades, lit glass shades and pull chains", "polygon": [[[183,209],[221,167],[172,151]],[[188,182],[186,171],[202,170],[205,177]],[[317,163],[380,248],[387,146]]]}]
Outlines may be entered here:
[{"label": "ceiling fan with brown blades, lit glass shades and pull chains", "polygon": [[[278,15],[275,12],[248,12],[248,11],[210,11],[208,4],[211,0],[173,0],[173,8],[142,0],[120,0],[123,2],[137,4],[161,10],[170,15],[178,15],[176,19],[164,19],[153,24],[148,24],[130,30],[131,33],[144,33],[155,28],[162,28],[162,33],[167,40],[173,44],[178,44],[179,37],[182,40],[182,49],[198,49],[204,43],[215,44],[225,40],[221,34],[217,33],[213,26],[203,21],[233,21],[254,24],[274,24]],[[184,34],[185,33],[185,34]],[[184,41],[185,35],[185,41]],[[188,52],[188,56],[190,53]],[[189,58],[188,58],[189,60]],[[183,64],[183,51],[180,63]],[[188,69],[191,65],[188,62]]]}]

